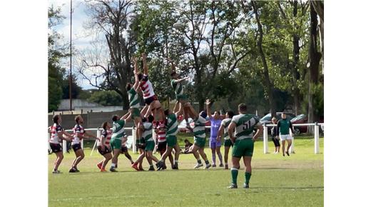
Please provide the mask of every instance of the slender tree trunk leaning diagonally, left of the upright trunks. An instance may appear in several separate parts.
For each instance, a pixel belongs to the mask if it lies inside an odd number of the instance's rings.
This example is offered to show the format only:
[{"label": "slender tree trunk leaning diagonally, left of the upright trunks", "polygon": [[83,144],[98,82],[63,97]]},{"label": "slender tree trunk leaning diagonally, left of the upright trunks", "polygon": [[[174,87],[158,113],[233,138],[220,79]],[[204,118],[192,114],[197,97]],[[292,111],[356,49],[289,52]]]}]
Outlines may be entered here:
[{"label": "slender tree trunk leaning diagonally, left of the upright trunks", "polygon": [[255,19],[256,19],[256,22],[258,24],[258,32],[259,32],[259,38],[258,38],[258,42],[257,42],[257,45],[258,45],[258,51],[259,51],[259,54],[260,54],[260,57],[262,59],[262,62],[263,62],[263,75],[264,75],[264,79],[265,79],[265,89],[267,90],[267,94],[268,94],[268,100],[269,100],[269,105],[270,105],[270,114],[271,116],[275,116],[275,100],[273,99],[273,84],[272,82],[270,81],[270,77],[269,77],[269,71],[268,71],[268,64],[267,64],[267,60],[265,59],[265,54],[264,54],[264,51],[263,51],[263,28],[262,28],[262,25],[260,24],[260,18],[259,18],[259,14],[258,14],[258,8],[257,8],[257,5],[256,5],[256,1],[252,1],[251,4],[253,4],[253,9],[254,9],[254,14],[255,14]]}]

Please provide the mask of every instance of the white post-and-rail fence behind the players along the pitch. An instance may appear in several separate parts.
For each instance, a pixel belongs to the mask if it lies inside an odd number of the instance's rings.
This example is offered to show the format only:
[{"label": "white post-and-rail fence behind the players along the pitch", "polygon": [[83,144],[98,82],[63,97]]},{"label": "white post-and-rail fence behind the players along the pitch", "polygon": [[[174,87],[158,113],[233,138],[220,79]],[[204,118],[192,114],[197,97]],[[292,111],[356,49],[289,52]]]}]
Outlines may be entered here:
[{"label": "white post-and-rail fence behind the players along the pitch", "polygon": [[[277,126],[277,125],[276,124],[264,124],[263,125],[263,153],[269,153],[268,152],[268,126]],[[296,123],[296,124],[293,124],[293,126],[314,126],[315,127],[315,134],[314,134],[315,154],[320,153],[320,126],[324,126],[324,123]],[[205,128],[210,128],[210,126],[205,126]],[[128,146],[128,148],[132,148],[133,153],[136,153],[136,128],[125,127],[124,129],[125,130],[131,130],[131,136],[128,136],[128,140],[132,138],[132,143],[131,143],[131,146]],[[96,131],[96,137],[99,138],[101,136],[101,131],[103,131],[103,128],[85,128],[85,130],[86,131]],[[68,133],[73,132],[73,130],[71,130],[71,129],[68,129],[68,130],[65,130],[65,131],[68,132]],[[290,133],[292,133],[292,132],[290,131]],[[154,129],[153,129],[152,136],[153,136],[153,140],[156,141],[156,133],[155,133]],[[48,137],[48,147],[50,149],[49,139],[50,139],[50,132],[49,132],[49,137]],[[294,151],[294,136],[293,136],[292,141],[293,142],[291,144],[289,152],[290,153],[295,153],[295,151]],[[92,155],[93,151],[96,149],[97,142],[98,141],[96,140],[94,145],[93,145],[93,149],[91,150],[90,155]],[[63,140],[62,148],[63,148],[63,153],[66,153],[67,152],[67,142],[66,142],[66,140]],[[81,140],[81,148],[83,148],[83,139]],[[156,152],[156,148],[153,150],[153,152]]]}]

